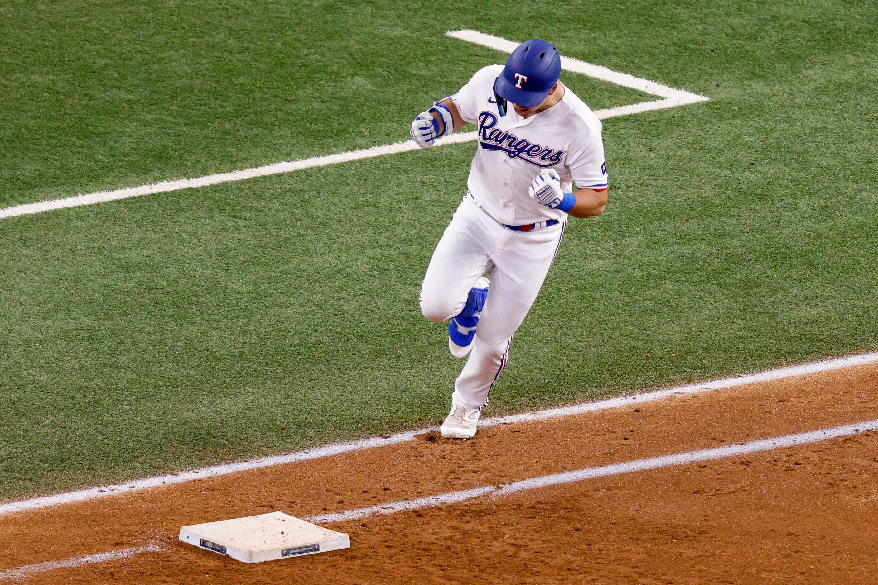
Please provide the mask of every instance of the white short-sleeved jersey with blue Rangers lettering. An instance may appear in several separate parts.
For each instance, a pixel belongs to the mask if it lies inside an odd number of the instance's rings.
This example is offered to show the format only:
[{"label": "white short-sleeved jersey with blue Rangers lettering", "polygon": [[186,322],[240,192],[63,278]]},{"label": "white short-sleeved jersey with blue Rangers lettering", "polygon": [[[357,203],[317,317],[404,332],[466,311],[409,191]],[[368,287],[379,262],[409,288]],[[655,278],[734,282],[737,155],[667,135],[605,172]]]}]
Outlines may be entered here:
[{"label": "white short-sleeved jersey with blue Rangers lettering", "polygon": [[510,105],[500,116],[493,83],[502,65],[480,69],[451,96],[464,121],[479,125],[479,148],[467,187],[500,223],[527,225],[566,214],[537,203],[530,183],[543,168],[554,168],[565,191],[607,189],[601,121],[569,88],[548,110],[522,118]]}]

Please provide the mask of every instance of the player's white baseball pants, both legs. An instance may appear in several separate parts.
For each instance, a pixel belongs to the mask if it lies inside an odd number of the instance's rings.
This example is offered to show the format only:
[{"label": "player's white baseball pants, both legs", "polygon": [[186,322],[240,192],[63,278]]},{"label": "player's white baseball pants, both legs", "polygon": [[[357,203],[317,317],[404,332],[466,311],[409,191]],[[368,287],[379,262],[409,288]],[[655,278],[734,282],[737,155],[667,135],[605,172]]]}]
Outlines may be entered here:
[{"label": "player's white baseball pants, both legs", "polygon": [[421,289],[421,312],[434,323],[455,317],[470,289],[488,270],[491,285],[479,317],[475,346],[457,377],[451,403],[486,406],[506,366],[512,334],[543,286],[558,252],[565,223],[516,232],[464,197],[436,246]]}]

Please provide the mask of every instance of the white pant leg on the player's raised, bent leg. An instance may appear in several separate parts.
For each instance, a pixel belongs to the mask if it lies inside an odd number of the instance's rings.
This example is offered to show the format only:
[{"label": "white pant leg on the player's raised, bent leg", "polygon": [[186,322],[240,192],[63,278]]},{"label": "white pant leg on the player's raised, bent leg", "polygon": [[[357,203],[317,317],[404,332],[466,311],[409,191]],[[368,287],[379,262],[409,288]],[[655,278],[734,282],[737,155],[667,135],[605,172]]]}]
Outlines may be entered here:
[{"label": "white pant leg on the player's raised, bent leg", "polygon": [[484,211],[464,200],[435,247],[421,286],[421,313],[442,323],[464,310],[470,289],[491,268],[485,251]]}]

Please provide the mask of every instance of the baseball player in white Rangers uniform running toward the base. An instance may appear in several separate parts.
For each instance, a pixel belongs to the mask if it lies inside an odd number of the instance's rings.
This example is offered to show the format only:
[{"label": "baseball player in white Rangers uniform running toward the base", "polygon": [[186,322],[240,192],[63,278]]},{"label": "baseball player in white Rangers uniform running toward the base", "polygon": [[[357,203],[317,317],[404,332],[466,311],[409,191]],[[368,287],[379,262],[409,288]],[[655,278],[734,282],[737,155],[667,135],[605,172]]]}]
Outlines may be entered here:
[{"label": "baseball player in white Rangers uniform running toward the base", "polygon": [[527,40],[506,67],[479,70],[412,123],[412,139],[421,147],[467,123],[479,126],[466,195],[421,289],[424,317],[450,319],[451,354],[469,355],[442,424],[448,439],[476,433],[479,412],[507,364],[513,333],[543,286],[568,215],[590,218],[607,203],[601,122],[558,81],[560,73],[555,46]]}]

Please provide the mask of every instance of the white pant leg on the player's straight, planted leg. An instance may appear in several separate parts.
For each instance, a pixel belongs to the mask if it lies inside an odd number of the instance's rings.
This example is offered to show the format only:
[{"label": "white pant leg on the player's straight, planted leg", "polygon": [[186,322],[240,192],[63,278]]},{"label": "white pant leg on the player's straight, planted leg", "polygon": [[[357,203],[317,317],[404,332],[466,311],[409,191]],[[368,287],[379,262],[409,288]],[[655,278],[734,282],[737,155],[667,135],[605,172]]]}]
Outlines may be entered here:
[{"label": "white pant leg on the player's straight, planted leg", "polygon": [[[512,335],[536,301],[558,251],[563,225],[515,233],[503,253],[493,255],[491,289],[479,320],[479,334],[455,382],[452,403],[477,410],[506,367]],[[474,431],[474,430],[473,430]]]}]

